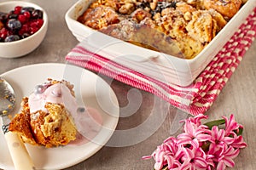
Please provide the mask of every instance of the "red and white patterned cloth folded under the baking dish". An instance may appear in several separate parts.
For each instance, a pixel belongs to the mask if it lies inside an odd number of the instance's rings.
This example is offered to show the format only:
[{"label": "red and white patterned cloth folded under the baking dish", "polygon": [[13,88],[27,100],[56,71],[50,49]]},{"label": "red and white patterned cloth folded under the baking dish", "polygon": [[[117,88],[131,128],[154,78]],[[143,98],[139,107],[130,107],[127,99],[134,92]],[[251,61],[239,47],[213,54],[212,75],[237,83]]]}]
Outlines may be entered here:
[{"label": "red and white patterned cloth folded under the baking dish", "polygon": [[205,113],[224,88],[256,37],[256,8],[189,87],[159,82],[90,52],[79,43],[67,54],[69,63],[96,71],[135,88],[155,94],[191,115]]}]

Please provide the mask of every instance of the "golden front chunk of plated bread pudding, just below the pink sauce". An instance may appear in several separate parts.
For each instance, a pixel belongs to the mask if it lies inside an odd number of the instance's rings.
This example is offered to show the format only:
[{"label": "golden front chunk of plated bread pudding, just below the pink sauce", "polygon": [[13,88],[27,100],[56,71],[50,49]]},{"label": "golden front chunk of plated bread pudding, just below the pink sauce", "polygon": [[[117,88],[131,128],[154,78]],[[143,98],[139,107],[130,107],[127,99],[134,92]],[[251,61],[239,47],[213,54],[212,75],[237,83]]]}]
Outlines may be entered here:
[{"label": "golden front chunk of plated bread pudding, just below the pink sauce", "polygon": [[46,147],[66,145],[76,139],[76,128],[67,115],[65,107],[60,104],[47,103],[48,112],[32,113],[31,127],[38,144]]}]

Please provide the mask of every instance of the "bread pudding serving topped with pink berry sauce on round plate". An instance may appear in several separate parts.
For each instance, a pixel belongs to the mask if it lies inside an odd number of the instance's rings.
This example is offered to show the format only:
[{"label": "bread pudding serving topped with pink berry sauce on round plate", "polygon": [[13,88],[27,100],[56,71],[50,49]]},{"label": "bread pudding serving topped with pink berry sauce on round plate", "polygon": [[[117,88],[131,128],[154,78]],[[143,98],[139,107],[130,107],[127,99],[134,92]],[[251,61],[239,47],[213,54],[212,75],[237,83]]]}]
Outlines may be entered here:
[{"label": "bread pudding serving topped with pink berry sauce on round plate", "polygon": [[48,83],[22,99],[20,114],[10,122],[9,130],[33,145],[53,147],[68,144],[76,139],[77,129],[70,106],[66,107],[61,98],[72,98],[67,99],[72,102],[73,95],[73,85],[69,82],[49,79]]}]

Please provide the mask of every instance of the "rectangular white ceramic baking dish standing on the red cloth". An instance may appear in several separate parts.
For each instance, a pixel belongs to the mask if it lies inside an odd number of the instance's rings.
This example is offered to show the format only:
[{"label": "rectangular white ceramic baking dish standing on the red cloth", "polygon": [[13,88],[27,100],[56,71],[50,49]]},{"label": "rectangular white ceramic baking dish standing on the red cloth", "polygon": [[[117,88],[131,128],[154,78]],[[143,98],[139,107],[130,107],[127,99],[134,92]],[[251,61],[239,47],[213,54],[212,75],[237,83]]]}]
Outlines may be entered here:
[{"label": "rectangular white ceramic baking dish standing on the red cloth", "polygon": [[84,47],[144,75],[179,86],[188,86],[198,77],[256,7],[255,0],[248,0],[200,54],[193,59],[181,59],[109,37],[79,23],[79,15],[83,14],[93,1],[79,0],[65,15],[69,30]]}]

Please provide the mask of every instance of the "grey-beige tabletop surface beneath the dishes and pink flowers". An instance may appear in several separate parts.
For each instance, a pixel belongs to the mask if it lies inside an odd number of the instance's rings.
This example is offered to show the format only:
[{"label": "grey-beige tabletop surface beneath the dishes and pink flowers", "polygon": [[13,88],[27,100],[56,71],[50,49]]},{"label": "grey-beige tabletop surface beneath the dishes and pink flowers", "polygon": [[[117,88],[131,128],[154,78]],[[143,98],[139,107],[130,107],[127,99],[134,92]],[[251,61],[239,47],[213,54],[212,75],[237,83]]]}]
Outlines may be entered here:
[{"label": "grey-beige tabletop surface beneath the dishes and pink flowers", "polygon": [[[3,0],[0,0],[0,3]],[[68,30],[64,15],[76,0],[69,1],[49,1],[33,0],[28,1],[38,3],[49,15],[49,29],[44,42],[31,54],[17,59],[0,58],[0,75],[6,71],[18,68],[24,65],[37,63],[65,63],[66,54],[78,43]],[[247,142],[247,148],[241,150],[236,157],[236,166],[234,169],[253,170],[256,169],[256,42],[253,42],[251,48],[247,50],[244,59],[236,69],[235,73],[224,86],[218,99],[213,103],[206,115],[210,120],[218,119],[221,116],[230,116],[234,114],[236,121],[244,126],[243,137]],[[102,76],[108,80],[108,77]],[[26,82],[22,82],[26,83]],[[166,101],[159,99],[153,94],[142,90],[132,88],[122,82],[111,82],[111,88],[119,100],[119,109],[125,111],[127,106],[132,105],[129,95],[141,96],[141,105],[134,114],[119,119],[117,129],[131,129],[142,124],[153,111],[158,111],[160,116],[167,115],[160,124],[159,128],[148,135],[143,141],[137,141],[137,134],[131,135],[129,139],[134,144],[126,146],[103,146],[95,155],[90,156],[85,161],[80,162],[73,167],[67,167],[66,170],[150,170],[153,169],[154,161],[143,161],[142,156],[150,155],[157,145],[170,135],[175,135],[177,127],[172,126],[172,122],[177,116],[183,116],[176,108],[169,105]],[[129,95],[127,95],[129,94]],[[173,128],[174,127],[174,128]],[[147,129],[144,129],[147,131]],[[143,132],[145,132],[143,131]],[[140,132],[137,132],[140,133]],[[172,133],[172,134],[171,134]],[[143,135],[143,134],[142,134]],[[134,139],[135,138],[135,139]],[[119,139],[120,141],[122,139]],[[1,154],[1,151],[0,151]]]}]

